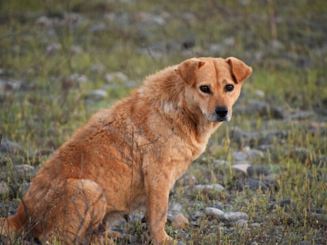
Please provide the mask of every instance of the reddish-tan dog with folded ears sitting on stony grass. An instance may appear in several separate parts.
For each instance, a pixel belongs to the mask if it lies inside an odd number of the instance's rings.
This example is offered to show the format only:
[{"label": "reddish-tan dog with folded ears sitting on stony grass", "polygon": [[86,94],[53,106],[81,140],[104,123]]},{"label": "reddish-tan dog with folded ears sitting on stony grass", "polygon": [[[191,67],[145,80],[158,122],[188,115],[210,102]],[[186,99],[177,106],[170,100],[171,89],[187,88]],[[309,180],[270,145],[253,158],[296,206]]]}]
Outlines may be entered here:
[{"label": "reddish-tan dog with folded ears sitting on stony grass", "polygon": [[41,242],[109,243],[117,220],[143,211],[153,244],[164,227],[169,191],[229,121],[252,68],[237,58],[192,58],[150,75],[131,96],[102,109],[40,168],[1,234]]}]

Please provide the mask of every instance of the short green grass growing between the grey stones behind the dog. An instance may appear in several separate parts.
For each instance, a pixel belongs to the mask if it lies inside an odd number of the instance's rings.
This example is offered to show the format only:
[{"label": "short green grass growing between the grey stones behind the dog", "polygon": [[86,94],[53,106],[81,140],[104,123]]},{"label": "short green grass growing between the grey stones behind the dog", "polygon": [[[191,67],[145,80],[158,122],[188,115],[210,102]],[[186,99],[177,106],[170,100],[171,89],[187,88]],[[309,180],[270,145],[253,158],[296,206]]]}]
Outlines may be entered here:
[{"label": "short green grass growing between the grey stones behind the dog", "polygon": [[[197,227],[185,231],[185,239],[167,224],[167,231],[176,239],[189,244],[296,244],[303,239],[312,244],[324,244],[326,220],[312,213],[322,209],[327,215],[326,166],[312,163],[320,155],[327,155],[326,125],[320,133],[308,131],[311,123],[326,121],[326,40],[324,1],[272,1],[276,17],[279,48],[271,44],[273,34],[269,22],[267,1],[2,1],[0,2],[0,68],[9,78],[21,81],[17,91],[0,86],[0,133],[4,139],[22,146],[22,152],[0,155],[0,180],[9,186],[9,194],[1,203],[12,203],[16,208],[22,197],[22,183],[31,177],[16,173],[14,166],[36,166],[48,156],[35,156],[39,150],[55,150],[64,143],[87,118],[99,108],[110,106],[128,96],[130,86],[121,81],[108,84],[105,74],[122,71],[133,86],[165,66],[176,64],[193,56],[235,56],[253,67],[253,74],[243,87],[239,105],[259,99],[270,105],[291,110],[310,110],[313,118],[305,120],[274,120],[256,115],[234,115],[210,140],[207,152],[196,160],[188,173],[199,183],[218,182],[226,187],[224,192],[198,192],[185,190],[178,184],[171,200],[183,204],[185,214],[215,205],[227,205],[224,211],[244,211],[250,222],[262,225],[255,229],[237,228],[231,231],[226,224],[207,220],[205,215],[197,220]],[[162,16],[166,24],[138,28],[137,18],[116,25],[103,17],[110,13],[150,12]],[[80,14],[75,24],[64,20],[66,13]],[[191,17],[185,17],[188,13]],[[40,16],[58,18],[60,24],[52,30],[37,24]],[[193,16],[193,17],[192,17]],[[116,18],[117,19],[117,18]],[[89,30],[95,23],[104,22],[106,29],[99,33]],[[232,37],[232,45],[226,38]],[[230,41],[229,40],[229,41]],[[194,42],[192,48],[183,49],[185,41]],[[171,43],[178,43],[176,45]],[[46,53],[53,43],[61,48],[54,54]],[[157,50],[147,50],[151,44],[170,47],[156,56]],[[220,44],[218,51],[212,44]],[[72,46],[81,51],[74,53]],[[102,70],[95,71],[98,65]],[[69,80],[73,74],[85,75],[86,83]],[[86,103],[85,94],[92,89],[105,89],[105,100]],[[255,90],[265,94],[261,98]],[[288,137],[273,142],[273,150],[264,159],[252,163],[267,166],[275,175],[279,189],[238,191],[238,176],[230,167],[231,152],[240,149],[230,135],[234,127],[246,131],[287,130]],[[253,146],[258,146],[256,142]],[[292,155],[294,147],[310,150],[304,160]],[[285,153],[286,152],[286,153]],[[215,159],[227,159],[223,180],[209,178],[219,174]],[[295,208],[269,206],[290,198]],[[190,211],[191,210],[191,211]],[[5,214],[1,209],[1,214]],[[132,224],[131,234],[138,241],[145,240],[145,227]]]}]

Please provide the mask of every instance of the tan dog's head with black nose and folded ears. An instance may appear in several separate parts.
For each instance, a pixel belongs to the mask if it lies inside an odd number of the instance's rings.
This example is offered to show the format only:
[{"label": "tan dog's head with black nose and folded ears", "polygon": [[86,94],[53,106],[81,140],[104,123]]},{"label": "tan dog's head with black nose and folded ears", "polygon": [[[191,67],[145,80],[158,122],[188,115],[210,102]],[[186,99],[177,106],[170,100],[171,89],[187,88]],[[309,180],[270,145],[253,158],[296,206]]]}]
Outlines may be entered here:
[{"label": "tan dog's head with black nose and folded ears", "polygon": [[175,69],[185,83],[186,107],[209,121],[229,121],[252,68],[237,58],[192,58]]}]

